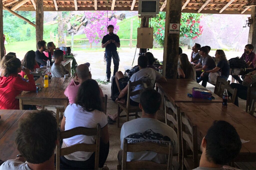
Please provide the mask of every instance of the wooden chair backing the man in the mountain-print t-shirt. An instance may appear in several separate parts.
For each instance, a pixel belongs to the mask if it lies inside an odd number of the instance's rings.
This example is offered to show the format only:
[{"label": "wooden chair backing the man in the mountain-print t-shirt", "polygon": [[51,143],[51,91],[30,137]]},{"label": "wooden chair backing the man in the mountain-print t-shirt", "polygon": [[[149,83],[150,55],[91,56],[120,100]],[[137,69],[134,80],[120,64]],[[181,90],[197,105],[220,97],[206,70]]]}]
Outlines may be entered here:
[{"label": "wooden chair backing the man in the mountain-print t-shirt", "polygon": [[[167,164],[159,164],[153,161],[127,162],[127,152],[153,151],[159,154],[168,154]],[[159,145],[153,142],[127,143],[124,140],[122,169],[172,169],[172,146]]]}]

